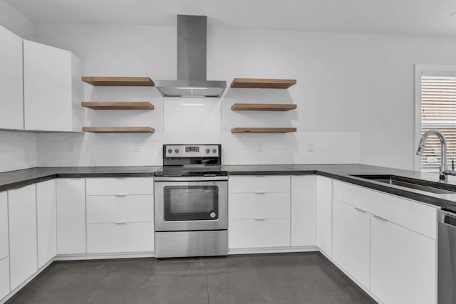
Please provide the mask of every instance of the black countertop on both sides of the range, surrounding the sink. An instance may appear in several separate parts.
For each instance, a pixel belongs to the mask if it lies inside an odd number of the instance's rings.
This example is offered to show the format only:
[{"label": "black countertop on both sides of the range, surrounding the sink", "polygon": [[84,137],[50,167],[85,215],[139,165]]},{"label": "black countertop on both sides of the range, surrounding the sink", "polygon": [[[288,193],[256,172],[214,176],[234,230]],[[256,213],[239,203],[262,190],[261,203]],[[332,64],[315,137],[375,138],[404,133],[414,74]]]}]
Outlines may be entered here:
[{"label": "black countertop on both sides of the range, surrounding the sink", "polygon": [[[431,194],[414,189],[405,189],[373,180],[353,177],[351,175],[375,174],[393,175],[435,182],[437,174],[370,166],[366,164],[266,164],[266,165],[224,165],[229,175],[305,175],[318,174],[343,182],[357,184],[381,192],[403,196],[407,199],[421,201],[439,206],[447,211],[456,212],[455,194]],[[57,177],[153,177],[160,166],[137,167],[46,167],[31,168],[0,173],[0,192],[24,187],[28,184],[44,182]],[[448,187],[456,191],[456,177],[450,177]]]}]

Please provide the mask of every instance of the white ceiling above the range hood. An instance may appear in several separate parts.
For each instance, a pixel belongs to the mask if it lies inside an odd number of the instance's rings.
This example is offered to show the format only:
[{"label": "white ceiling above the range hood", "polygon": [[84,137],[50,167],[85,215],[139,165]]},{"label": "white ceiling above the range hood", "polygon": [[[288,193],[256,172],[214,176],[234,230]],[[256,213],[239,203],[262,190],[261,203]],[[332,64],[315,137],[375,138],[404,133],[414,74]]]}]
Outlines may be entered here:
[{"label": "white ceiling above the range hood", "polygon": [[[0,0],[3,1],[3,0]],[[456,36],[456,0],[6,0],[35,22]]]}]

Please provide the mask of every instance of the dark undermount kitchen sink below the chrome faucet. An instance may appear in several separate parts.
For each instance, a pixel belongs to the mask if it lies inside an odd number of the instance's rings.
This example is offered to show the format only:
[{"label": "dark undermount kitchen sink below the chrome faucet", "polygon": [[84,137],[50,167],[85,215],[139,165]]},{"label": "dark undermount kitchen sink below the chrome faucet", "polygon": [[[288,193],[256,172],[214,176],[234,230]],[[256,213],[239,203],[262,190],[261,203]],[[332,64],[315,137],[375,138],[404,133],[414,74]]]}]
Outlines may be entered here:
[{"label": "dark undermount kitchen sink below the chrome faucet", "polygon": [[428,182],[420,179],[411,179],[408,177],[398,177],[395,175],[351,175],[352,177],[361,177],[376,182],[392,184],[395,186],[406,187],[410,189],[430,192],[435,194],[456,194],[456,186],[443,184],[440,182]]}]

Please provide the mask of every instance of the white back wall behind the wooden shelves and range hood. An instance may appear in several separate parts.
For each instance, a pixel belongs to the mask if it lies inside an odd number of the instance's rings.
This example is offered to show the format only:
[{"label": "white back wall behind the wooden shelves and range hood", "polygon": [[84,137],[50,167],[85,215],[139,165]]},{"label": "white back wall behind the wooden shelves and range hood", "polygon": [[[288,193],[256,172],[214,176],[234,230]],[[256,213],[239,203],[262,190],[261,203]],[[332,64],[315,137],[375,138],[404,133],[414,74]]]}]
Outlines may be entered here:
[{"label": "white back wall behind the wooden shelves and range hood", "polygon": [[[173,79],[175,39],[172,27],[40,23],[36,28],[37,41],[81,57],[86,75]],[[297,85],[279,91],[228,89],[219,100],[163,99],[152,88],[144,96],[156,105],[154,114],[115,114],[117,121],[110,121],[108,115],[114,114],[108,113],[90,112],[88,117],[92,125],[152,125],[157,129],[154,135],[38,135],[38,159],[43,159],[38,163],[160,164],[162,143],[222,142],[224,162],[229,164],[362,162],[413,169],[413,65],[456,63],[454,38],[209,28],[207,43],[209,80],[227,80],[229,85],[235,77],[296,78]],[[103,90],[89,87],[86,98],[96,101],[94,92],[100,93],[97,98],[123,92]],[[138,98],[134,92],[122,97]],[[296,103],[298,109],[284,113],[229,110],[234,102],[264,100]],[[260,125],[294,126],[299,132],[229,132],[231,127]],[[81,142],[81,157],[67,155],[71,140]],[[46,161],[52,145],[44,142],[52,141],[66,151],[54,158],[55,164],[52,159]],[[308,151],[309,142],[314,151]],[[138,144],[144,148],[138,149]],[[106,152],[108,147],[117,152]],[[257,151],[259,147],[262,151]],[[113,153],[110,160],[103,157],[105,152]],[[122,155],[130,160],[121,160]]]}]

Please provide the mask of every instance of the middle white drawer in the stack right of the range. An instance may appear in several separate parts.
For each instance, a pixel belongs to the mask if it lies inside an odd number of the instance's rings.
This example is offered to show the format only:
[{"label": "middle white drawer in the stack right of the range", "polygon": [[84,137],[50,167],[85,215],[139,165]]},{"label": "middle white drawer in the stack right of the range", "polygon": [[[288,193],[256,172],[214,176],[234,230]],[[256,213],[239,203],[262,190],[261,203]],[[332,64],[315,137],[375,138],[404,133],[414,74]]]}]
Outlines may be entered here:
[{"label": "middle white drawer in the stack right of the range", "polygon": [[290,193],[232,193],[229,219],[284,219],[290,217]]}]

